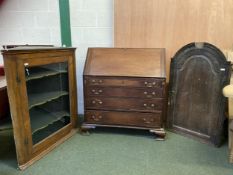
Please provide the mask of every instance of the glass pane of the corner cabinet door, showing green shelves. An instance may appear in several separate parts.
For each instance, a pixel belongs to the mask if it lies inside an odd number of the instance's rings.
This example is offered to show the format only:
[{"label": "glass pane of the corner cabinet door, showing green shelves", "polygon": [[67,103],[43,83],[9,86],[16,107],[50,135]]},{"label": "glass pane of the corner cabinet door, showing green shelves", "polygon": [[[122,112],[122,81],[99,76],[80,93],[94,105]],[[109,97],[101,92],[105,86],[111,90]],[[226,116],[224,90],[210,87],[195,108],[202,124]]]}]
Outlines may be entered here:
[{"label": "glass pane of the corner cabinet door, showing green shelves", "polygon": [[68,62],[25,65],[33,144],[70,123]]}]

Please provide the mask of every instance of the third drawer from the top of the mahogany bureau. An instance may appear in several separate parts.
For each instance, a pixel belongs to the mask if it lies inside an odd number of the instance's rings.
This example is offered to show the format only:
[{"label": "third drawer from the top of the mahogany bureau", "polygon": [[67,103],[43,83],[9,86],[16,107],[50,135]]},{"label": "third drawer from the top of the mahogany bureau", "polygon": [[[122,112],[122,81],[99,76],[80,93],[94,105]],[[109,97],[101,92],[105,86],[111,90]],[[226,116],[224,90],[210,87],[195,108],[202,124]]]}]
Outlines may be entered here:
[{"label": "third drawer from the top of the mahogany bureau", "polygon": [[161,111],[163,99],[104,98],[89,97],[85,99],[88,109]]}]

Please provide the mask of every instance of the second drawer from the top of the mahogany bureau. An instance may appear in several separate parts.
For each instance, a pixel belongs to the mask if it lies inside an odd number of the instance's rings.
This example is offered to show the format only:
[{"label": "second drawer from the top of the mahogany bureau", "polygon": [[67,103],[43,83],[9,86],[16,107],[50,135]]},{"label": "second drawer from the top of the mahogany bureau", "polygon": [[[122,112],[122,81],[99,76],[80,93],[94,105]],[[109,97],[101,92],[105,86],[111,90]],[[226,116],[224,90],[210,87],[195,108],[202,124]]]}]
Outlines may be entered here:
[{"label": "second drawer from the top of the mahogany bureau", "polygon": [[85,88],[85,96],[163,98],[164,89],[89,86]]}]

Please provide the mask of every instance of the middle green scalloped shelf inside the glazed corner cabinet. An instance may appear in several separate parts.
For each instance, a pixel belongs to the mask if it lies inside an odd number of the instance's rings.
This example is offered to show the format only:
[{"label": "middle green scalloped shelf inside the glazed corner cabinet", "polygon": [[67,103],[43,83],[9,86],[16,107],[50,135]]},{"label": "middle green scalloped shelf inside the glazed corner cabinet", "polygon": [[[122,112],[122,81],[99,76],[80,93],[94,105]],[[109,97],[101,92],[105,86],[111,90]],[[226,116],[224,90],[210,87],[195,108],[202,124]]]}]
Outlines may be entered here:
[{"label": "middle green scalloped shelf inside the glazed corner cabinet", "polygon": [[61,96],[68,95],[67,91],[53,91],[46,93],[38,93],[38,94],[28,94],[29,98],[29,109],[45,104],[49,101],[55,100]]}]

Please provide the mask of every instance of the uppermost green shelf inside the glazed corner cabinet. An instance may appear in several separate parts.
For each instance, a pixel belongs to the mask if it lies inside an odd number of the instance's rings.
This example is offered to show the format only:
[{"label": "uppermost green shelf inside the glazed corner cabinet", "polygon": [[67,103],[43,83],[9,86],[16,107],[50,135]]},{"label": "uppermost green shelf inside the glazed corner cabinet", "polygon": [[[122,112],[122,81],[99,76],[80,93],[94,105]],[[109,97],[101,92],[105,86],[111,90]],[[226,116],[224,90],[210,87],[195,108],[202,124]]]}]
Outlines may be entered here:
[{"label": "uppermost green shelf inside the glazed corner cabinet", "polygon": [[36,72],[30,73],[26,77],[26,81],[40,79],[40,78],[44,78],[48,76],[61,74],[61,73],[67,73],[67,70],[52,70],[52,69],[40,68]]}]

